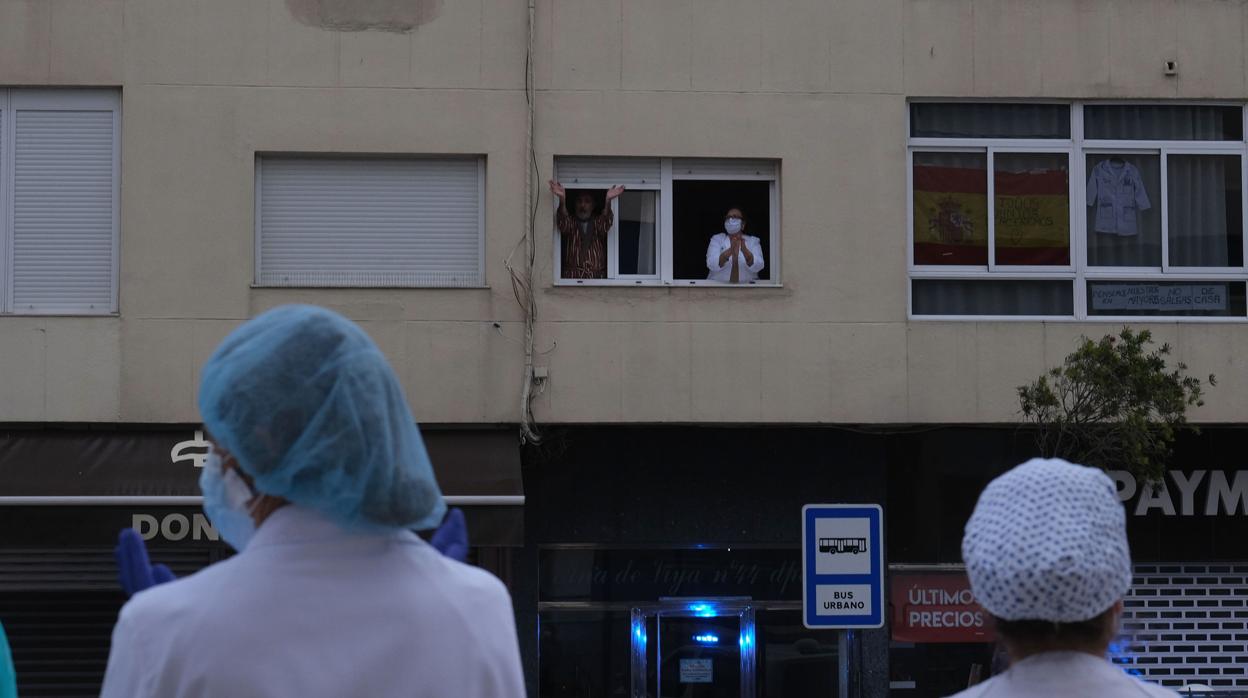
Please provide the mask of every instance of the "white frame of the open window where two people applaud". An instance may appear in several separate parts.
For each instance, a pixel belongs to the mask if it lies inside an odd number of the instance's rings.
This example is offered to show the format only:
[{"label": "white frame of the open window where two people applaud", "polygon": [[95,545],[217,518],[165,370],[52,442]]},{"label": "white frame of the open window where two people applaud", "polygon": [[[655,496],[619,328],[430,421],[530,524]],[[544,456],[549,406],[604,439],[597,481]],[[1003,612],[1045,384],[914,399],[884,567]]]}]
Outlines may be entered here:
[{"label": "white frame of the open window where two people applaud", "polygon": [[[597,157],[597,156],[585,156]],[[610,159],[613,156],[603,156],[604,159]],[[774,170],[770,175],[706,175],[706,174],[675,174],[673,172],[673,162],[681,160],[679,157],[659,157],[660,176],[659,182],[651,185],[649,182],[644,185],[628,185],[625,191],[655,191],[658,192],[658,216],[655,221],[655,265],[656,270],[653,275],[619,275],[619,200],[612,201],[612,212],[615,215],[615,220],[612,224],[612,230],[608,232],[607,237],[607,278],[563,278],[563,240],[559,235],[559,227],[552,226],[554,229],[554,245],[552,250],[553,256],[553,268],[554,268],[554,285],[555,286],[714,286],[716,288],[776,288],[782,286],[780,280],[780,161],[770,160],[774,164]],[[724,160],[734,161],[741,160],[735,157],[723,157],[723,159],[706,159],[706,160]],[[555,157],[555,177],[558,179],[558,162],[559,156]],[[713,281],[709,278],[675,278],[674,277],[674,263],[673,263],[673,182],[680,180],[693,180],[693,181],[744,181],[744,182],[768,182],[768,196],[769,196],[769,230],[771,231],[770,240],[768,243],[768,257],[765,260],[769,268],[768,280],[748,281],[733,283],[729,281]],[[565,186],[568,182],[563,182]],[[599,180],[585,180],[578,179],[575,186],[572,189],[588,189],[588,190],[605,190],[619,182],[599,181]],[[559,199],[552,196],[552,212],[559,209]],[[708,241],[710,238],[708,237]]]}]

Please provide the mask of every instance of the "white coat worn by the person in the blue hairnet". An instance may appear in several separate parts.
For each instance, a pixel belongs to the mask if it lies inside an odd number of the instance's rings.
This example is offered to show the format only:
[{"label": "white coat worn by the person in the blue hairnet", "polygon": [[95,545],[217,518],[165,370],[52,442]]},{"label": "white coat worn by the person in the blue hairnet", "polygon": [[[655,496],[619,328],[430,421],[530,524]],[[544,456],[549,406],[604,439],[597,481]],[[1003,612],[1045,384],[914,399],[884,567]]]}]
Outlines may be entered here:
[{"label": "white coat worn by the person in the blue hairnet", "polygon": [[524,678],[497,578],[287,506],[242,553],[126,603],[101,696],[514,698]]}]

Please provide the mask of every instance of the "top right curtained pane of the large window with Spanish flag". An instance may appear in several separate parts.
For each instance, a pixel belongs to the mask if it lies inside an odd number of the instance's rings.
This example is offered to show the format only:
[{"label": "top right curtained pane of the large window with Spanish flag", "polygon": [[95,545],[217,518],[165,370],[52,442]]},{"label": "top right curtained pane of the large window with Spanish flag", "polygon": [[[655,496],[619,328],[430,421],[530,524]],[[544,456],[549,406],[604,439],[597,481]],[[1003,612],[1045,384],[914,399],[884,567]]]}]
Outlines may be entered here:
[{"label": "top right curtained pane of the large window with Spanish flag", "polygon": [[1202,105],[1088,105],[1083,107],[1083,137],[1101,140],[1242,141],[1244,125],[1238,106]]}]

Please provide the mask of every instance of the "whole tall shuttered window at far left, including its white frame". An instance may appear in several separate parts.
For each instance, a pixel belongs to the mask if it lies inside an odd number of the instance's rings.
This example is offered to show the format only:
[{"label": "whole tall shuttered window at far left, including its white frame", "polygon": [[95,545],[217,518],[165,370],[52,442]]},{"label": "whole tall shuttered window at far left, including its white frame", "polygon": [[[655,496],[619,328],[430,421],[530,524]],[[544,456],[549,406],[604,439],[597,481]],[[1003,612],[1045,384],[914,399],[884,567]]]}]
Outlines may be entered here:
[{"label": "whole tall shuttered window at far left, including its white frame", "polygon": [[0,89],[0,313],[117,311],[120,101]]}]

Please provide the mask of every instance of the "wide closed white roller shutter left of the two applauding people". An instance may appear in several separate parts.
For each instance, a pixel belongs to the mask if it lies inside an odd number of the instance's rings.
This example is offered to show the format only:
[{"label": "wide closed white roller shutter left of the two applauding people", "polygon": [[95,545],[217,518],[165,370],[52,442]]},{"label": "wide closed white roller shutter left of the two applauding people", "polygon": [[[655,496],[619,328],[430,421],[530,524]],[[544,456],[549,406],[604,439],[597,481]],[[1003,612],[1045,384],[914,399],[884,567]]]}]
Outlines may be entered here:
[{"label": "wide closed white roller shutter left of the two applauding people", "polygon": [[480,286],[478,157],[262,157],[263,286]]}]

